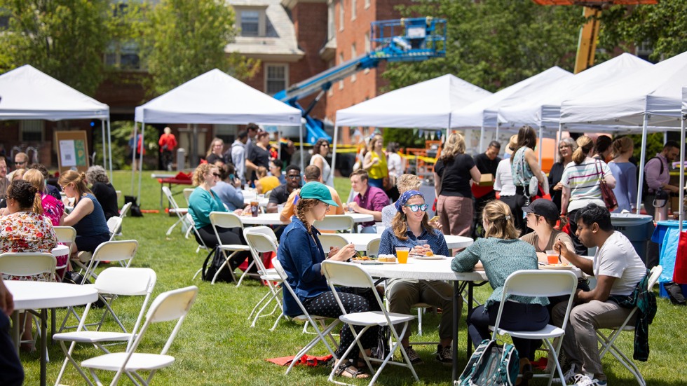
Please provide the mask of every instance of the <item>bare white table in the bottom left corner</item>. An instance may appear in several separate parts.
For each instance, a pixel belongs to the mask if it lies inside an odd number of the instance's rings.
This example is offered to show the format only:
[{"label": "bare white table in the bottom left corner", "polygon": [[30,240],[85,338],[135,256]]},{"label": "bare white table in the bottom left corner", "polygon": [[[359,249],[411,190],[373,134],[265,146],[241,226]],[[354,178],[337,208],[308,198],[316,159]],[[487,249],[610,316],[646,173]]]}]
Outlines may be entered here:
[{"label": "bare white table in the bottom left corner", "polygon": [[41,386],[46,385],[46,354],[48,352],[48,308],[83,305],[97,301],[95,287],[54,282],[20,282],[8,280],[5,286],[14,298],[12,338],[19,350],[18,310],[41,310]]}]

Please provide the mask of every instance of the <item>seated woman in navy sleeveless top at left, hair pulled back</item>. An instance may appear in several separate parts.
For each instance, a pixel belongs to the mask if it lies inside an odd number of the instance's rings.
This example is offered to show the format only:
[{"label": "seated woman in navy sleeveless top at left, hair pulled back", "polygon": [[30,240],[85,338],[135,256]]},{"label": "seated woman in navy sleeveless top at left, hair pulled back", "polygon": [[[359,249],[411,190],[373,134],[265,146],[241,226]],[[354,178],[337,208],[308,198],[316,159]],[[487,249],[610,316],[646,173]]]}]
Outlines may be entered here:
[{"label": "seated woman in navy sleeveless top at left, hair pulled back", "polygon": [[60,225],[76,229],[76,249],[93,252],[110,238],[107,220],[93,192],[86,186],[86,174],[67,170],[58,180],[67,198],[74,198],[74,209],[64,212]]}]

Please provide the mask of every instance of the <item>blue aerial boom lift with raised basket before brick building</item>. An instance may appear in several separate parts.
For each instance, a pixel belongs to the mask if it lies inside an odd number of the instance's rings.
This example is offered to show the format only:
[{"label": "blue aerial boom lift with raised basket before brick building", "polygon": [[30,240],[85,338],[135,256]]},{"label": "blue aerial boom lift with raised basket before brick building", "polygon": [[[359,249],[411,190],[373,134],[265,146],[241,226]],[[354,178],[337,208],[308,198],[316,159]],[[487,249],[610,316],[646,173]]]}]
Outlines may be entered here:
[{"label": "blue aerial boom lift with raised basket before brick building", "polygon": [[[305,118],[306,142],[314,144],[320,138],[329,141],[332,137],[325,132],[321,120],[308,115],[315,104],[325,95],[336,81],[341,81],[358,71],[377,67],[379,62],[419,62],[433,57],[446,55],[446,20],[435,18],[407,18],[399,20],[381,20],[370,23],[370,41],[373,50],[327,69],[292,85],[286,90],[277,92],[274,97],[302,111]],[[299,99],[319,92],[313,102],[304,109]]]}]

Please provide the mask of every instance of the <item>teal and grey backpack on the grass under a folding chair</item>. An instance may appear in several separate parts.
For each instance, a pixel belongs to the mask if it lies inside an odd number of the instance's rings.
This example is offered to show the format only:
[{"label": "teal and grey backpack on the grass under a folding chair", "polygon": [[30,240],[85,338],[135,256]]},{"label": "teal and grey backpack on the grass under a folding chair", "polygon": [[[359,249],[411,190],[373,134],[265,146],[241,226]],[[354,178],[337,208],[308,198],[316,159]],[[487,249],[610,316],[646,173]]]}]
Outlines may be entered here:
[{"label": "teal and grey backpack on the grass under a folding chair", "polygon": [[519,357],[509,343],[501,346],[496,340],[482,340],[468,366],[458,378],[461,386],[513,386],[519,371]]}]

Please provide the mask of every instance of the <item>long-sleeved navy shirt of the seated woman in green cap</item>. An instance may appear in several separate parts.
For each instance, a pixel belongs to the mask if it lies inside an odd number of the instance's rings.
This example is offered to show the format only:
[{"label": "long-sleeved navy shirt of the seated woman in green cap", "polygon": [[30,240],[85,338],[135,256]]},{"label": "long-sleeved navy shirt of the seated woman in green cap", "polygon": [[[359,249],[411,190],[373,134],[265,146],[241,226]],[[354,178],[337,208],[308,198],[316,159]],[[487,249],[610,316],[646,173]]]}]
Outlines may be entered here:
[{"label": "long-sleeved navy shirt of the seated woman in green cap", "polygon": [[[325,251],[318,238],[320,231],[315,227],[312,230],[313,235],[309,235],[304,223],[293,216],[281,235],[277,251],[277,259],[286,271],[289,285],[301,302],[330,291],[320,268],[322,261],[325,261]],[[289,291],[282,291],[282,294],[284,314],[301,315],[301,308]]]}]

